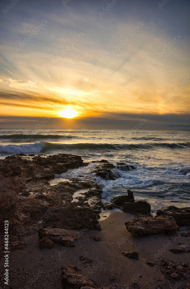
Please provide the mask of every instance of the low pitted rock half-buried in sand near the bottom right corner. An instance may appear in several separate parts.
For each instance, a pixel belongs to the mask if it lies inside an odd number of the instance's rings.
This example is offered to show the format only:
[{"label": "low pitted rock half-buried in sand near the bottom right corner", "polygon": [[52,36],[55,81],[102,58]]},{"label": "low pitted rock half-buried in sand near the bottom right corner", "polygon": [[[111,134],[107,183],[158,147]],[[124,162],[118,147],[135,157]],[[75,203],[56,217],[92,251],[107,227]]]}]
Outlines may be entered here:
[{"label": "low pitted rock half-buried in sand near the bottom right corner", "polygon": [[171,278],[172,274],[177,275],[177,277],[175,277],[177,280],[187,279],[189,277],[189,263],[178,263],[176,261],[161,259],[159,262],[159,266],[160,271],[162,272],[162,274],[164,274],[164,277]]}]

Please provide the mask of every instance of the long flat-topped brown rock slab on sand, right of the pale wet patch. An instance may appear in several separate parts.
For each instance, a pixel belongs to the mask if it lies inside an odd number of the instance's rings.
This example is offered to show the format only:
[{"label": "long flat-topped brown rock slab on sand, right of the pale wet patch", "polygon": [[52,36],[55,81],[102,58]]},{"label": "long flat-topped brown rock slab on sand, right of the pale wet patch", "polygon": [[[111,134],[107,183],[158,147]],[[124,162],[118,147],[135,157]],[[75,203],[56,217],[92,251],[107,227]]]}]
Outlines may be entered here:
[{"label": "long flat-topped brown rock slab on sand, right of the pale wet patch", "polygon": [[138,217],[125,223],[127,230],[138,236],[146,234],[171,233],[179,229],[173,217]]}]

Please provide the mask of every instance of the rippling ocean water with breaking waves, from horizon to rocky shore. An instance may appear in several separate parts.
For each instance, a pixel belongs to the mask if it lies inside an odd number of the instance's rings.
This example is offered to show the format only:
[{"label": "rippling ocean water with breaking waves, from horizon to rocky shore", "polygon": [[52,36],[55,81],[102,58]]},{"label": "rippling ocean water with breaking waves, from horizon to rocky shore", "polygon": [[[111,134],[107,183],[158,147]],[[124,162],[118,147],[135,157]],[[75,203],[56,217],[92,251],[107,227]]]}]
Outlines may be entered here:
[{"label": "rippling ocean water with breaking waves, from horizon to rocky shore", "polygon": [[[0,158],[16,153],[81,155],[86,167],[68,170],[52,181],[78,177],[97,181],[103,201],[130,189],[137,200],[151,204],[152,212],[175,205],[190,206],[190,131],[125,129],[0,129]],[[119,171],[116,180],[104,180],[92,171],[92,160],[125,162],[136,170]]]}]

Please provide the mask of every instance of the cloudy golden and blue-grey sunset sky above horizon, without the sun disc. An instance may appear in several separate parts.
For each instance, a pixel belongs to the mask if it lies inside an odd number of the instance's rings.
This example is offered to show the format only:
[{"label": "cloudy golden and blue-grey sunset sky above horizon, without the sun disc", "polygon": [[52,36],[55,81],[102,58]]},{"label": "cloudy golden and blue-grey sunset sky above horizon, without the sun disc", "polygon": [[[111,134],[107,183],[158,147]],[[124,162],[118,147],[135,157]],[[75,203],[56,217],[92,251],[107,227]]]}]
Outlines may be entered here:
[{"label": "cloudy golden and blue-grey sunset sky above horizon, without the sun disc", "polygon": [[189,1],[12,1],[1,127],[190,129]]}]

